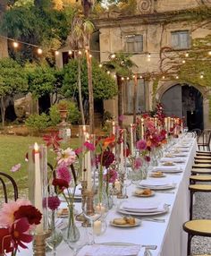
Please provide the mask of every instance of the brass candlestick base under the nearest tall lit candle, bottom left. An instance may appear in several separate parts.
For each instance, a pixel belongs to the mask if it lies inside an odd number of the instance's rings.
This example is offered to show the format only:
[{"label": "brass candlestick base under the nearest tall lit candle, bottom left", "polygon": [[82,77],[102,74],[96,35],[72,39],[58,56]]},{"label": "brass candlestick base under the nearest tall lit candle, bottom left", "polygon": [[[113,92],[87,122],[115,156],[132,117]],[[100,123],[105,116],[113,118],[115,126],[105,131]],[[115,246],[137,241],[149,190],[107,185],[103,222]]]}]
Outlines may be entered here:
[{"label": "brass candlestick base under the nearest tall lit candle, bottom left", "polygon": [[42,234],[34,235],[33,242],[33,255],[46,256],[46,238],[51,235],[50,231],[43,232]]}]

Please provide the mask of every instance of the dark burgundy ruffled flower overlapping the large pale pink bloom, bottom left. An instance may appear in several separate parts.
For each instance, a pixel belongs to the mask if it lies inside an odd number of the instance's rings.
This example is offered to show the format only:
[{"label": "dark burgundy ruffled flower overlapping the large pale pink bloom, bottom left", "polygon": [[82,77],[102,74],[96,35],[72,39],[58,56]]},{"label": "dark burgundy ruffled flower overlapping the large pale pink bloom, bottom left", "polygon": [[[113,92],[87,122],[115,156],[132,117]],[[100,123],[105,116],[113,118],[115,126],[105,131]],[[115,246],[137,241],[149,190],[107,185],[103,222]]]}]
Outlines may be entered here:
[{"label": "dark burgundy ruffled flower overlapping the large pale pink bloom, bottom left", "polygon": [[22,205],[14,212],[14,218],[27,218],[30,225],[38,225],[42,218],[40,211],[32,205]]}]

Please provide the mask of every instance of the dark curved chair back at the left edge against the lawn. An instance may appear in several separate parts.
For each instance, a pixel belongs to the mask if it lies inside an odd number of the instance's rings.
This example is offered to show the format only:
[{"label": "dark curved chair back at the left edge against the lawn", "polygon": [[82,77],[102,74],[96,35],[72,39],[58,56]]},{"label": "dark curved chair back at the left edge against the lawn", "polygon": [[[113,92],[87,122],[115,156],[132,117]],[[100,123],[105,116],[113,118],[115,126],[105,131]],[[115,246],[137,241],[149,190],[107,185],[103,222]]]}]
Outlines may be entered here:
[{"label": "dark curved chair back at the left edge against the lawn", "polygon": [[18,199],[18,186],[15,183],[13,177],[11,175],[0,172],[0,183],[2,184],[4,192],[4,202],[8,202],[8,183],[11,183],[13,186],[13,199],[16,201]]}]

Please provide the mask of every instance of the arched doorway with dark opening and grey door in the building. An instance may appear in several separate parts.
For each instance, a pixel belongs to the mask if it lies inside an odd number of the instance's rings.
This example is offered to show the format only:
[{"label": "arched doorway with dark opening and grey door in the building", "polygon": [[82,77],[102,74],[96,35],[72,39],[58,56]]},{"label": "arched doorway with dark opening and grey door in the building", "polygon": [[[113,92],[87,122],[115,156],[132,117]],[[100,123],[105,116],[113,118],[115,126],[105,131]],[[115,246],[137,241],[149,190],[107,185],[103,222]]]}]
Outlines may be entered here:
[{"label": "arched doorway with dark opening and grey door in the building", "polygon": [[184,117],[189,130],[204,129],[203,96],[199,90],[189,84],[176,84],[161,97],[165,115]]}]

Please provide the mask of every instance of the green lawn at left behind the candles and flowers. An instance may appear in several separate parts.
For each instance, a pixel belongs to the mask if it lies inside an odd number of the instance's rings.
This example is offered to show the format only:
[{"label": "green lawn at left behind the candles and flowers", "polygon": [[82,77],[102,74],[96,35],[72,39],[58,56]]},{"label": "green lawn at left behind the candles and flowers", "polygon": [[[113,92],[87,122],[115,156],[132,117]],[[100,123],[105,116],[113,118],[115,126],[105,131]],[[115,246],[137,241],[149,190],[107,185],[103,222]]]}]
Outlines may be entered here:
[{"label": "green lawn at left behind the candles and flowers", "polygon": [[[25,162],[26,153],[35,142],[44,143],[40,137],[22,137],[15,135],[0,135],[0,171],[12,175],[18,183],[19,190],[28,187],[27,183],[27,168],[28,163]],[[66,143],[63,147],[75,149],[78,147],[78,139],[71,139],[70,143]],[[48,150],[48,161],[52,162],[53,154]],[[12,166],[21,163],[21,169],[16,172],[10,172]]]}]

